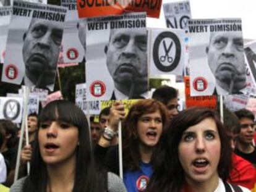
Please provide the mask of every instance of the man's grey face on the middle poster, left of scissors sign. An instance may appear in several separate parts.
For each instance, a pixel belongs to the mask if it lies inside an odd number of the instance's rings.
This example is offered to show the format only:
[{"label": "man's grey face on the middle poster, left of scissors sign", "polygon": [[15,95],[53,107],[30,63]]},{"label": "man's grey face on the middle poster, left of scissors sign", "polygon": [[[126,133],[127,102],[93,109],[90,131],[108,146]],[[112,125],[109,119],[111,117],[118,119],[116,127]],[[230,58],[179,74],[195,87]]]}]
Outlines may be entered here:
[{"label": "man's grey face on the middle poster, left of scissors sign", "polygon": [[116,83],[147,83],[146,30],[112,30],[105,52],[109,73]]}]

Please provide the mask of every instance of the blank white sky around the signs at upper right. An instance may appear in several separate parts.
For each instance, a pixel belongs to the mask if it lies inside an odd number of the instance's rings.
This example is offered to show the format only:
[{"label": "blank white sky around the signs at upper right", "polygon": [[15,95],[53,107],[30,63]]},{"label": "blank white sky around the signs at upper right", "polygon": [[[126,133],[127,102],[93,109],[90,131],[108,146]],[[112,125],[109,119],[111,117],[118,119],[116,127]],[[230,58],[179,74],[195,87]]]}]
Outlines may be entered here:
[{"label": "blank white sky around the signs at upper right", "polygon": [[[178,0],[163,0],[163,4]],[[190,0],[192,19],[241,18],[244,38],[256,40],[255,0]],[[163,6],[160,19],[147,19],[147,27],[166,28]]]}]

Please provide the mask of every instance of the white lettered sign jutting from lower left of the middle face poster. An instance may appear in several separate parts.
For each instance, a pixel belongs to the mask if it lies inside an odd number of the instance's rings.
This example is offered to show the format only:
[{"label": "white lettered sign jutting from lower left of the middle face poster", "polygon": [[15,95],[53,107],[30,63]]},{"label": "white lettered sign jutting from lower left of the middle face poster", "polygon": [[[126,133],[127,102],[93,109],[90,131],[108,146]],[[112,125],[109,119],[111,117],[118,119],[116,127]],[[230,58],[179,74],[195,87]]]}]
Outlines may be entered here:
[{"label": "white lettered sign jutting from lower left of the middle face poster", "polygon": [[75,85],[75,104],[84,114],[100,114],[100,101],[86,101],[86,83]]}]

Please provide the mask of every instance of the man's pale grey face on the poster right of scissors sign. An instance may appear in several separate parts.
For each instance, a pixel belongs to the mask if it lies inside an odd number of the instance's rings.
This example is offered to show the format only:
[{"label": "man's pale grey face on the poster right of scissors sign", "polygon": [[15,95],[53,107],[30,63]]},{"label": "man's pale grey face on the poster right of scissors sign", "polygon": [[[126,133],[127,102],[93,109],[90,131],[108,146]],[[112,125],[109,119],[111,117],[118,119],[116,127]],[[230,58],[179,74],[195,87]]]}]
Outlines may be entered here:
[{"label": "man's pale grey face on the poster right of scissors sign", "polygon": [[227,84],[245,81],[244,45],[241,31],[211,33],[208,65],[215,78]]}]

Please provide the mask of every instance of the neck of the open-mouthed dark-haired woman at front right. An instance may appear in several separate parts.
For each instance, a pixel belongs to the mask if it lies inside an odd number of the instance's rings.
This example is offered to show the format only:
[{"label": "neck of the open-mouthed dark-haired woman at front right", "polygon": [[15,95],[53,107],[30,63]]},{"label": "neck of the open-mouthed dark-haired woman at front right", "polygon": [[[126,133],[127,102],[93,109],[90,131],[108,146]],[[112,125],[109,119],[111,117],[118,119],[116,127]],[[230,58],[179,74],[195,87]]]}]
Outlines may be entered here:
[{"label": "neck of the open-mouthed dark-haired woman at front right", "polygon": [[207,182],[194,182],[189,178],[186,179],[186,186],[184,187],[183,191],[190,191],[190,192],[213,192],[219,185],[219,177],[213,176]]}]

